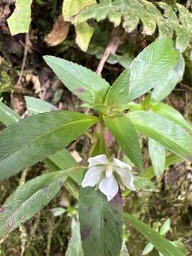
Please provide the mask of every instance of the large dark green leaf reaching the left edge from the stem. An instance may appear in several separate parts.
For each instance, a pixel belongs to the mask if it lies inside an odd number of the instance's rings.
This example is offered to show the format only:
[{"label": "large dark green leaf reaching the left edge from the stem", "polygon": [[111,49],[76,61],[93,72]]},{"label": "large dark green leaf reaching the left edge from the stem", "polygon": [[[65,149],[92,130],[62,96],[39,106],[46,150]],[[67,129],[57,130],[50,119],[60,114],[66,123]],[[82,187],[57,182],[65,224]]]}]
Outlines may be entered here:
[{"label": "large dark green leaf reaching the left edge from the stem", "polygon": [[97,117],[54,111],[22,119],[0,132],[0,180],[63,149],[97,122]]}]

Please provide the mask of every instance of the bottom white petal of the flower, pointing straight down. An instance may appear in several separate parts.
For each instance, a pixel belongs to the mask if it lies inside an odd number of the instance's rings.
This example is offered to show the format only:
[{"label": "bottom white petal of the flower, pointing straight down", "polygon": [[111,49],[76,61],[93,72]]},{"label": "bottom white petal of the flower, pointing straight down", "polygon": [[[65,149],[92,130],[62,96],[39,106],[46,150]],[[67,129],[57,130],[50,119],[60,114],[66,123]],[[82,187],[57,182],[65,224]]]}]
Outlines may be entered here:
[{"label": "bottom white petal of the flower, pointing straight down", "polygon": [[119,191],[118,183],[113,175],[103,178],[100,182],[99,188],[100,191],[107,196],[107,201],[111,201]]}]

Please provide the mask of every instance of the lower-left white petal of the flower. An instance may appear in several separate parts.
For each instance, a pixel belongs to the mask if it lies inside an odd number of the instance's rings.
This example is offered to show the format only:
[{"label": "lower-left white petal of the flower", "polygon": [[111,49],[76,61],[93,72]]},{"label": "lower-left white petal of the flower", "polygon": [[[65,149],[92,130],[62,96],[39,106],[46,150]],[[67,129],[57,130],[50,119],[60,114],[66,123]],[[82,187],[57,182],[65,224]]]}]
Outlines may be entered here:
[{"label": "lower-left white petal of the flower", "polygon": [[85,174],[81,186],[95,186],[100,181],[100,174],[105,171],[105,166],[93,166]]}]

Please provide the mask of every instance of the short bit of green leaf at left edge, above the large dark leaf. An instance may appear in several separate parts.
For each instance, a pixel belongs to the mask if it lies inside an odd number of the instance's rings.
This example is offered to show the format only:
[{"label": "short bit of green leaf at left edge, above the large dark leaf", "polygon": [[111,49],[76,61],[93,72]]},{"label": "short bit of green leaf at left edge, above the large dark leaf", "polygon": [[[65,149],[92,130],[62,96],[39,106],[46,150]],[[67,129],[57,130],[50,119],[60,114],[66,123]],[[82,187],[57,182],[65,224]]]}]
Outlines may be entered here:
[{"label": "short bit of green leaf at left edge, above the large dark leaf", "polygon": [[8,126],[18,122],[21,117],[16,114],[10,107],[7,107],[3,102],[0,101],[0,121]]}]

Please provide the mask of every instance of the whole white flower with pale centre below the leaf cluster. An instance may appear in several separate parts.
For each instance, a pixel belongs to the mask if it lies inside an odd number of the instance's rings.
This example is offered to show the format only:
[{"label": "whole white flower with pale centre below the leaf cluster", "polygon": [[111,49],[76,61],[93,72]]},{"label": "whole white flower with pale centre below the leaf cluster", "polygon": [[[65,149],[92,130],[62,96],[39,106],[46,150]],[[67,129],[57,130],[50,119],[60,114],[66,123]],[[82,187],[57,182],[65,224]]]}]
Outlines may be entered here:
[{"label": "whole white flower with pale centre below the leaf cluster", "polygon": [[110,161],[105,154],[90,157],[88,162],[89,169],[82,180],[82,188],[99,184],[100,191],[104,193],[105,196],[107,196],[107,200],[110,201],[119,190],[118,183],[113,175],[113,171],[116,171],[124,186],[132,191],[136,190],[133,183],[134,177],[129,164],[125,164],[123,161],[115,158]]}]

